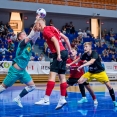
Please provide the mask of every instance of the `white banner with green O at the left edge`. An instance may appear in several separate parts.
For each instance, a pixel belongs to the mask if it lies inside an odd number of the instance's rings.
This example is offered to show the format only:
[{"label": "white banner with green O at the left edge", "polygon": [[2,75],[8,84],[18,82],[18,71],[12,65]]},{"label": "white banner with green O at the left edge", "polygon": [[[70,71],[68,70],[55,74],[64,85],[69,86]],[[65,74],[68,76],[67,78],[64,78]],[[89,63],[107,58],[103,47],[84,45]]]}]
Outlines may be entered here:
[{"label": "white banner with green O at the left edge", "polygon": [[0,61],[0,74],[7,74],[11,65],[11,61]]}]

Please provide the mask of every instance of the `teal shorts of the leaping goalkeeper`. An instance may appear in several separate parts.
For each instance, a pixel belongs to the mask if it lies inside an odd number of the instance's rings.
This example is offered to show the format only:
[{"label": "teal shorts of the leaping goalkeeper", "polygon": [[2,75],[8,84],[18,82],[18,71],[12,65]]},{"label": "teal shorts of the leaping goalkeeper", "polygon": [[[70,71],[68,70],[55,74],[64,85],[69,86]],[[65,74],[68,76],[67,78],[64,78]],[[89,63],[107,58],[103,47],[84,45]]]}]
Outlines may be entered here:
[{"label": "teal shorts of the leaping goalkeeper", "polygon": [[6,78],[3,81],[3,84],[10,87],[17,80],[19,80],[21,83],[27,84],[32,80],[32,78],[26,70],[17,70],[14,66],[11,66]]}]

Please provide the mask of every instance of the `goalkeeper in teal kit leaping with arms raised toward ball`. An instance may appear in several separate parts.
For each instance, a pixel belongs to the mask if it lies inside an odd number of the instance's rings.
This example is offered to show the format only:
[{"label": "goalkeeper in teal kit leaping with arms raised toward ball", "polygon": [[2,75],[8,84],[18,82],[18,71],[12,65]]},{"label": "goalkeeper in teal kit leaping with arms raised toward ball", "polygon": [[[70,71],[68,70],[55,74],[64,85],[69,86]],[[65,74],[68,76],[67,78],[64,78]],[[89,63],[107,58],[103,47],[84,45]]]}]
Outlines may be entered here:
[{"label": "goalkeeper in teal kit leaping with arms raised toward ball", "polygon": [[16,51],[16,57],[13,60],[12,66],[9,68],[6,78],[0,85],[0,93],[12,86],[17,80],[20,80],[21,83],[27,85],[22,92],[13,99],[19,107],[23,107],[20,99],[35,89],[35,84],[25,68],[27,67],[32,54],[32,45],[38,36],[39,32],[34,31],[34,29],[28,36],[24,31],[17,35],[20,42]]}]

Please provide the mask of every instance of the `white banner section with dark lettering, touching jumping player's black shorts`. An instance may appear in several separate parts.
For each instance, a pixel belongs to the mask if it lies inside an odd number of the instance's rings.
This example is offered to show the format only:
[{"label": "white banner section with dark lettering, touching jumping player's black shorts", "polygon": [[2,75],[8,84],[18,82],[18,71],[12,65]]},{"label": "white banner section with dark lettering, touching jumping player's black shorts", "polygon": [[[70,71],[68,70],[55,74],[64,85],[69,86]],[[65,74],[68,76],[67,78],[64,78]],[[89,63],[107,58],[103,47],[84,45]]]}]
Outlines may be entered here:
[{"label": "white banner section with dark lettering, touching jumping player's black shorts", "polygon": [[39,74],[49,74],[50,72],[50,62],[38,62],[38,73]]}]

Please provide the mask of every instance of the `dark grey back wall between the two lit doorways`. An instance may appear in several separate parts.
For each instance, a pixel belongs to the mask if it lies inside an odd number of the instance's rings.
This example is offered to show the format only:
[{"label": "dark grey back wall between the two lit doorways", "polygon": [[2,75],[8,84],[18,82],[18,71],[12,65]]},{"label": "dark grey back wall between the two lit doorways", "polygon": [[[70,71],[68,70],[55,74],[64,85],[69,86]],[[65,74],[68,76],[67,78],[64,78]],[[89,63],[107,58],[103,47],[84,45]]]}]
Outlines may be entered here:
[{"label": "dark grey back wall between the two lit doorways", "polygon": [[[24,27],[28,28],[35,20],[35,14],[33,13],[24,13],[24,16],[28,17],[27,20],[24,20]],[[80,29],[86,29],[86,27],[89,26],[86,22],[89,20],[87,17],[79,17],[79,16],[73,16],[73,15],[64,15],[64,14],[47,14],[46,22],[47,25],[49,25],[50,19],[53,20],[54,25],[61,29],[63,25],[66,23],[69,23],[70,21],[73,22],[73,25],[75,26],[76,30]]]}]

